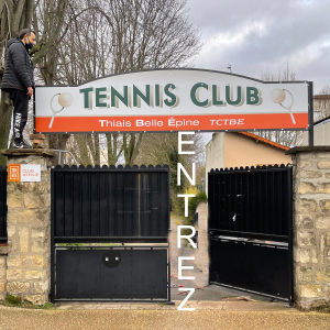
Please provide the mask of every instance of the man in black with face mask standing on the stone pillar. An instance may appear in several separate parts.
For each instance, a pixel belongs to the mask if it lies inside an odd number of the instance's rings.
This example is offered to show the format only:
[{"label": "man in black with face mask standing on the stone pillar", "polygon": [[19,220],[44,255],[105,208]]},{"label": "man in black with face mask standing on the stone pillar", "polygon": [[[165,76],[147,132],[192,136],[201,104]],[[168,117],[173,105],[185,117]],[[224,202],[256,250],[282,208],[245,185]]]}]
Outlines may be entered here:
[{"label": "man in black with face mask standing on the stone pillar", "polygon": [[28,121],[29,100],[33,95],[33,65],[29,51],[35,45],[35,32],[21,31],[20,36],[8,44],[7,65],[1,89],[9,94],[13,102],[13,136],[15,148],[31,148],[23,141],[23,130]]}]

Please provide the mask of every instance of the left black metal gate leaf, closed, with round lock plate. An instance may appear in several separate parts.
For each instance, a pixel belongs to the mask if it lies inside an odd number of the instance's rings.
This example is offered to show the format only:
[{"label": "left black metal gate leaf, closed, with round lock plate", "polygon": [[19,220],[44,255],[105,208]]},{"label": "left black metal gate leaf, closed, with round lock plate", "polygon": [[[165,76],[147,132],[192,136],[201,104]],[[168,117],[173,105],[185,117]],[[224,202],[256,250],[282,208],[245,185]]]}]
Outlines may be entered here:
[{"label": "left black metal gate leaf, closed, with round lock plate", "polygon": [[168,166],[56,166],[52,300],[170,301],[168,228]]}]

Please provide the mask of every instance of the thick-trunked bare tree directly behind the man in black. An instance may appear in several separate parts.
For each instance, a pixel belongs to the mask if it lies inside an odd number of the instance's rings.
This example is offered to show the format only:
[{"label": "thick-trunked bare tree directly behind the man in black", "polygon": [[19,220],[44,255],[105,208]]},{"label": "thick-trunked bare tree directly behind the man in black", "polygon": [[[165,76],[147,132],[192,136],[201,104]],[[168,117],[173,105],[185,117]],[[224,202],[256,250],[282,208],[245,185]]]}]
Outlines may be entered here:
[{"label": "thick-trunked bare tree directly behind the man in black", "polygon": [[[37,44],[32,48],[32,62],[36,66],[36,81],[51,85],[57,68],[55,47],[65,28],[68,0],[6,0],[0,2],[0,82],[6,61],[7,42],[16,37],[24,28],[33,26]],[[7,147],[11,127],[12,106],[7,94],[1,92],[0,147]],[[58,138],[61,139],[61,138]],[[1,158],[1,163],[6,160]]]}]

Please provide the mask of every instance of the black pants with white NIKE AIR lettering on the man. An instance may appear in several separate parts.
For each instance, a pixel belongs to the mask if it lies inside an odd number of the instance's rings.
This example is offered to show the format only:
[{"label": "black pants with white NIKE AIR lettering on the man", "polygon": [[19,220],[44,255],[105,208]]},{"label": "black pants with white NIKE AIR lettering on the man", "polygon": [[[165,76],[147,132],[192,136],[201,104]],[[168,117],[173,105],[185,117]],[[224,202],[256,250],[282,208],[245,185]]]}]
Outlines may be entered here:
[{"label": "black pants with white NIKE AIR lettering on the man", "polygon": [[26,91],[10,89],[9,97],[13,102],[13,136],[14,142],[23,141],[23,130],[28,121],[29,96]]}]

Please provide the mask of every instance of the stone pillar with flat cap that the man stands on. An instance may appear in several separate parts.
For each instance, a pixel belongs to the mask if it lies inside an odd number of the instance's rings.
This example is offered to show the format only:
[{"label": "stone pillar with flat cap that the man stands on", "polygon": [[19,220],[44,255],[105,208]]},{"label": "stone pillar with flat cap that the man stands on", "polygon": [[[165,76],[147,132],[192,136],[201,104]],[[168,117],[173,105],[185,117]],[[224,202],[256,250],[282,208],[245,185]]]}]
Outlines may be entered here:
[{"label": "stone pillar with flat cap that the man stands on", "polygon": [[[51,166],[48,150],[8,150],[8,164],[40,164],[40,183],[8,183],[7,294],[34,305],[48,301],[51,278]],[[1,282],[1,280],[0,280]]]}]

